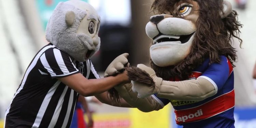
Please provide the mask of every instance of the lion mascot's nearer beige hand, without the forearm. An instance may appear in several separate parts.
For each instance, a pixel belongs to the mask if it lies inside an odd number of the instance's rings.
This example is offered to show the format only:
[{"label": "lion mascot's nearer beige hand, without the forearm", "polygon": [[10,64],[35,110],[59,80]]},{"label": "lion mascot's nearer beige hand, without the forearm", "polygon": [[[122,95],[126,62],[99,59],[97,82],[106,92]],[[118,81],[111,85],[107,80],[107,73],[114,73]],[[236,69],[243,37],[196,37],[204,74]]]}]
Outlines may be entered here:
[{"label": "lion mascot's nearer beige hand, without the forearm", "polygon": [[155,83],[155,85],[148,85],[137,81],[131,81],[133,85],[132,90],[138,93],[138,98],[145,98],[147,96],[158,93],[162,83],[162,78],[157,77],[155,71],[152,68],[143,64],[137,65],[137,68],[148,73]]}]

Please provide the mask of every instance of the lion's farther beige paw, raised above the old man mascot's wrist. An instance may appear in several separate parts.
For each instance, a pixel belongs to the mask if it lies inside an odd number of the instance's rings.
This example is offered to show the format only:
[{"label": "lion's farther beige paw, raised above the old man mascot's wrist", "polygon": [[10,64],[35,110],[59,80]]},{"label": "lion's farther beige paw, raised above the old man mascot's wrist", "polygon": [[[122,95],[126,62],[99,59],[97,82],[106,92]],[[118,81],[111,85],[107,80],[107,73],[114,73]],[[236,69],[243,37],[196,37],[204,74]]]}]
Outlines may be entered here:
[{"label": "lion's farther beige paw, raised above the old man mascot's wrist", "polygon": [[117,73],[123,72],[125,70],[125,67],[129,67],[129,62],[127,60],[127,57],[129,56],[128,53],[124,53],[122,55],[119,55],[116,57],[106,68],[106,71],[104,73],[104,77],[115,75]]}]

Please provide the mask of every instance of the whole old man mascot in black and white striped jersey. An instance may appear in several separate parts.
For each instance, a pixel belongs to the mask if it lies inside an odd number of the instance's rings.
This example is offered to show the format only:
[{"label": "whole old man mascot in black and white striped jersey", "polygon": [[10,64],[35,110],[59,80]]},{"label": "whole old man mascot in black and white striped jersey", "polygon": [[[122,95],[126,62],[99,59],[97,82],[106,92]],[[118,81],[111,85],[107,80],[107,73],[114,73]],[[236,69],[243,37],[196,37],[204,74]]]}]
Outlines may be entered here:
[{"label": "whole old man mascot in black and white striped jersey", "polygon": [[128,81],[127,72],[99,79],[89,60],[100,47],[99,26],[100,17],[86,2],[56,6],[46,28],[50,43],[28,66],[6,110],[5,128],[68,128],[79,94],[99,95]]}]

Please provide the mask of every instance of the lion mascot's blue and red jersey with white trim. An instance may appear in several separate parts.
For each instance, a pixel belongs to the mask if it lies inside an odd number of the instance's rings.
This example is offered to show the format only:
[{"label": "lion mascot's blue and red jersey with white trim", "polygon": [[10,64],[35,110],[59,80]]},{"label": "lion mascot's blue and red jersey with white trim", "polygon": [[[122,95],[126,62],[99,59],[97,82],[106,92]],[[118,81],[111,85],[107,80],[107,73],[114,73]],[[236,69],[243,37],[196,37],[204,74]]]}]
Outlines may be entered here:
[{"label": "lion mascot's blue and red jersey with white trim", "polygon": [[[202,101],[177,101],[158,98],[163,104],[173,105],[176,123],[185,128],[233,128],[234,127],[234,73],[231,62],[221,56],[220,63],[209,64],[206,59],[196,68],[188,80],[203,77],[215,87],[215,95]],[[177,81],[177,80],[174,80]]]}]

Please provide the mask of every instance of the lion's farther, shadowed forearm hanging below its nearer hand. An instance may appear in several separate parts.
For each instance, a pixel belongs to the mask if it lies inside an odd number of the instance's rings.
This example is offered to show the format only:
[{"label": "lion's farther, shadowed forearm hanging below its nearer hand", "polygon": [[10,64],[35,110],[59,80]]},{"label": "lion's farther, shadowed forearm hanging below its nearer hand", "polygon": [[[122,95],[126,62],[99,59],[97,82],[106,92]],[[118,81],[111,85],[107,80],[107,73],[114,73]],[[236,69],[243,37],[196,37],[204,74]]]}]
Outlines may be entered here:
[{"label": "lion's farther, shadowed forearm hanging below its nearer hand", "polygon": [[163,104],[158,103],[153,97],[138,98],[137,93],[132,91],[132,84],[126,83],[114,87],[119,95],[131,106],[138,108],[142,112],[151,112],[163,108]]}]

